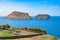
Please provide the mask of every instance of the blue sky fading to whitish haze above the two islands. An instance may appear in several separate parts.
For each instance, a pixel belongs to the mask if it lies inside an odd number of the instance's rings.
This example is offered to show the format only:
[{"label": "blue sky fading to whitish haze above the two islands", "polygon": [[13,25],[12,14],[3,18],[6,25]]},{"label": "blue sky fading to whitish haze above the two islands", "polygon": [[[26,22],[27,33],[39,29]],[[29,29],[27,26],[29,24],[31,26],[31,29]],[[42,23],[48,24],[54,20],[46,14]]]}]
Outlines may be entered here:
[{"label": "blue sky fading to whitish haze above the two islands", "polygon": [[0,16],[7,16],[13,11],[29,13],[31,16],[60,16],[60,0],[0,0]]}]

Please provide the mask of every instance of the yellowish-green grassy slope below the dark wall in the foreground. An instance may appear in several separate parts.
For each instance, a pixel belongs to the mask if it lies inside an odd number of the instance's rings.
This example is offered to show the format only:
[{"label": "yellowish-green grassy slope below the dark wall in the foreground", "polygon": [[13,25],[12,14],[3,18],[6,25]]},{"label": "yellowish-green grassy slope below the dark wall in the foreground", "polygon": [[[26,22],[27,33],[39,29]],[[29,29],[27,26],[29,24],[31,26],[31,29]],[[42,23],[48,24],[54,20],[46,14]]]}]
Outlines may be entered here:
[{"label": "yellowish-green grassy slope below the dark wall in the foreground", "polygon": [[57,40],[57,39],[53,36],[43,35],[43,36],[35,36],[31,38],[20,38],[14,40]]}]

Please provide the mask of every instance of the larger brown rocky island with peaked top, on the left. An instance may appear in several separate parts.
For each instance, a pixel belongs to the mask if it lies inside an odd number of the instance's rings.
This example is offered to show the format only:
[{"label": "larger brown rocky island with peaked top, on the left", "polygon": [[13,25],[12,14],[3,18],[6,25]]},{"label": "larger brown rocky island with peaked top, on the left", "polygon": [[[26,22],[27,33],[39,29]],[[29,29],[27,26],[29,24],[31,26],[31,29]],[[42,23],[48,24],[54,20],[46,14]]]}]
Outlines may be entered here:
[{"label": "larger brown rocky island with peaked top, on the left", "polygon": [[14,11],[5,18],[7,19],[31,19],[31,16],[29,16],[28,13],[18,12]]}]

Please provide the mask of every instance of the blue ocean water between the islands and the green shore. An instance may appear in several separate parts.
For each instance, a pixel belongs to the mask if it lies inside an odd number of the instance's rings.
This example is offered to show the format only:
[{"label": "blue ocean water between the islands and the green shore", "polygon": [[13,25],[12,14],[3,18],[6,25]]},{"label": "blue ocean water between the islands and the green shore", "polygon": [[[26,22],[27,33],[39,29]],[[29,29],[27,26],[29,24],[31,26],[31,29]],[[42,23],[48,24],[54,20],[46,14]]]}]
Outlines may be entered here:
[{"label": "blue ocean water between the islands and the green shore", "polygon": [[37,20],[34,17],[31,20],[5,19],[0,17],[0,25],[2,24],[9,24],[15,28],[42,28],[47,31],[47,34],[60,38],[60,16],[52,16],[47,20]]}]

